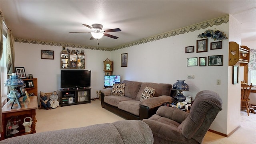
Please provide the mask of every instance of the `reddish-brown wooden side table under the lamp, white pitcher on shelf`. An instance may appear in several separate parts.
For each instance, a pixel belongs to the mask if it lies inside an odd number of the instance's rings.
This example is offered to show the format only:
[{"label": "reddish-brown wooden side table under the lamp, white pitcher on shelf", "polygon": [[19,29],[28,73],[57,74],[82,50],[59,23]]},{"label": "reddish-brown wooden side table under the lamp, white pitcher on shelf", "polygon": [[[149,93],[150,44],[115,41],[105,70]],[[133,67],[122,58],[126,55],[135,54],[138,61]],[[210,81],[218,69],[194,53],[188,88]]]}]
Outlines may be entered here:
[{"label": "reddish-brown wooden side table under the lamp, white pitcher on shelf", "polygon": [[[17,129],[20,132],[18,132],[17,134],[13,134],[11,137],[36,133],[36,108],[38,108],[37,96],[30,96],[30,103],[28,103],[28,101],[26,100],[26,102],[20,101],[20,104],[22,105],[22,107],[13,106],[13,108],[11,109],[11,105],[7,103],[2,108],[3,132],[1,133],[1,140],[7,138],[6,125],[8,120],[11,119],[12,116],[18,116],[18,118],[20,118],[22,122],[21,124],[19,124],[19,128]],[[24,118],[28,116],[32,118],[33,122],[31,125],[31,131],[25,133],[25,128],[22,123],[24,122]]]}]

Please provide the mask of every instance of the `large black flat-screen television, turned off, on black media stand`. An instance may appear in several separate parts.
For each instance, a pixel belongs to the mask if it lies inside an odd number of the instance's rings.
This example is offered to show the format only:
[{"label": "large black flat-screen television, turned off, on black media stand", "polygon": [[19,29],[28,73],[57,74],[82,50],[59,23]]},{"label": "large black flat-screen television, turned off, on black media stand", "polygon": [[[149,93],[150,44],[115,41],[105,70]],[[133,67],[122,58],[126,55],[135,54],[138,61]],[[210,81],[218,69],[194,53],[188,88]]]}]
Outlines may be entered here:
[{"label": "large black flat-screen television, turned off, on black media stand", "polygon": [[61,70],[60,88],[83,88],[91,86],[90,70]]}]

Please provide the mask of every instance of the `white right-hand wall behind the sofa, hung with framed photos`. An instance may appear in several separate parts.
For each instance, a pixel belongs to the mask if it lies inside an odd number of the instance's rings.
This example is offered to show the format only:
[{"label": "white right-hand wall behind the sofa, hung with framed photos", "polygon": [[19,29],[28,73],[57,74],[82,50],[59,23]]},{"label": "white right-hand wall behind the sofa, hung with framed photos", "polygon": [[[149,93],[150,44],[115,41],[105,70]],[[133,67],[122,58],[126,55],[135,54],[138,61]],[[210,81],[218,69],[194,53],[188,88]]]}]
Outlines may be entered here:
[{"label": "white right-hand wall behind the sofa, hung with framed photos", "polygon": [[[208,52],[196,53],[197,35],[207,29],[216,28],[227,34],[229,24],[212,26],[186,34],[148,42],[141,45],[116,50],[111,53],[115,62],[114,74],[120,74],[122,80],[136,80],[139,82],[157,82],[174,84],[176,80],[186,80],[189,91],[183,92],[185,96],[195,95],[201,90],[217,92],[223,101],[223,110],[218,114],[210,129],[228,134],[227,132],[227,95],[228,95],[228,40],[222,41],[222,49],[210,50],[208,38]],[[186,46],[195,46],[194,53],[185,53]],[[120,56],[128,53],[128,67],[120,67]],[[207,57],[222,55],[223,66],[186,66],[186,59],[192,57]],[[207,62],[208,65],[208,62]],[[188,79],[188,74],[194,74],[195,79]],[[232,75],[231,75],[232,76]],[[221,85],[216,85],[216,80],[221,80]],[[238,100],[240,104],[240,100]]]}]

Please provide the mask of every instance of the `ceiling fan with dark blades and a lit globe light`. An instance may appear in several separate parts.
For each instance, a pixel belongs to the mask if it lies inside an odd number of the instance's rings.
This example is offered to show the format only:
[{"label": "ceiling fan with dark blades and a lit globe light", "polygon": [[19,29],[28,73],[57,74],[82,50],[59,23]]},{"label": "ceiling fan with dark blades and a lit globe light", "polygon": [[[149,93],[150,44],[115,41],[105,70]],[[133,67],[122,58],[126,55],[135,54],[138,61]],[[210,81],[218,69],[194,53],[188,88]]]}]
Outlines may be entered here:
[{"label": "ceiling fan with dark blades and a lit globe light", "polygon": [[[102,36],[108,36],[110,38],[117,39],[118,38],[117,36],[107,34],[106,32],[120,32],[121,31],[120,28],[102,30],[102,28],[103,28],[102,24],[92,24],[92,26],[89,26],[87,24],[82,24],[82,25],[84,25],[94,31],[94,32],[88,32],[88,33],[92,34],[92,37],[90,38],[90,40],[100,39],[100,38],[102,38]],[[79,33],[79,32],[69,32],[69,33]]]}]

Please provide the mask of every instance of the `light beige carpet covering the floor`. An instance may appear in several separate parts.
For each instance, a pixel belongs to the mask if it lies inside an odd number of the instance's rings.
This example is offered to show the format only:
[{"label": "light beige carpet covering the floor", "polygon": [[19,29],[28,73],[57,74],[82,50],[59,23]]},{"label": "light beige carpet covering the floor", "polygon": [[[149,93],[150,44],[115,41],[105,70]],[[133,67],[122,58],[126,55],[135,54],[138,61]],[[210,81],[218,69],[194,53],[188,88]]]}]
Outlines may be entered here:
[{"label": "light beige carpet covering the floor", "polygon": [[[124,120],[105,110],[100,105],[100,100],[91,101],[90,104],[58,107],[52,110],[36,110],[36,132],[46,132],[65,128],[78,128],[93,124],[112,123]],[[207,132],[203,144],[256,144],[256,114],[247,116],[241,111],[241,127],[230,137]]]}]

